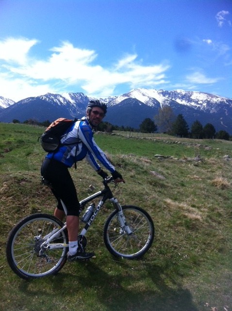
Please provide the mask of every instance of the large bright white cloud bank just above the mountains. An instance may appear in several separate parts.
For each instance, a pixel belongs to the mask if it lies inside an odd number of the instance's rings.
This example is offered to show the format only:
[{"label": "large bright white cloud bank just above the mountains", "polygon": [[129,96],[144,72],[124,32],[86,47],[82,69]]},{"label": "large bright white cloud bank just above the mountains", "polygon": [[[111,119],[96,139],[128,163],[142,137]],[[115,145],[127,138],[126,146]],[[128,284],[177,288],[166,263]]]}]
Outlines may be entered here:
[{"label": "large bright white cloud bank just above the mountains", "polygon": [[[120,84],[146,87],[166,83],[168,64],[144,66],[136,54],[126,54],[110,68],[103,68],[96,64],[95,51],[76,48],[69,42],[50,49],[47,59],[29,57],[30,49],[37,42],[28,39],[0,41],[0,51],[4,51],[0,52],[0,82],[4,81],[1,96],[20,100],[67,89],[81,91],[79,88],[91,96],[109,96],[115,95],[114,90]],[[14,52],[7,57],[8,49]]]}]

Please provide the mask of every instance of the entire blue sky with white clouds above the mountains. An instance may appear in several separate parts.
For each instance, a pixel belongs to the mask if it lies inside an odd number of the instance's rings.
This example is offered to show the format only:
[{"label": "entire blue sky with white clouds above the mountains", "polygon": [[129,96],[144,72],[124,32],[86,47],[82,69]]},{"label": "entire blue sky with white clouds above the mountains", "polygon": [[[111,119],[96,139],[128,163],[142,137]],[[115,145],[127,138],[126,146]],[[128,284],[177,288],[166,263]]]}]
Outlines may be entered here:
[{"label": "entire blue sky with white clouds above the mountains", "polygon": [[0,96],[232,98],[232,0],[0,0]]}]

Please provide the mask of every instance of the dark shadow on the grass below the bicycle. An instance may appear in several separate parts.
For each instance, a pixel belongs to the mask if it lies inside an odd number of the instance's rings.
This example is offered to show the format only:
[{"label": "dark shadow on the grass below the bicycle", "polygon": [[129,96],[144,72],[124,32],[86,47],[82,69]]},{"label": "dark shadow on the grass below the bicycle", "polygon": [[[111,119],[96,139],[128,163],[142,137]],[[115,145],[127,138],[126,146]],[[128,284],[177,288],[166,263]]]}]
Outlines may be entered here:
[{"label": "dark shadow on the grass below the bicycle", "polygon": [[[54,302],[58,304],[58,299],[63,300],[62,310],[71,310],[67,308],[65,301],[70,302],[70,297],[73,297],[69,304],[72,310],[73,307],[79,307],[79,310],[107,311],[199,311],[193,303],[191,293],[182,288],[180,282],[169,276],[163,268],[154,264],[146,264],[143,271],[145,278],[149,280],[147,286],[141,282],[136,271],[131,269],[126,275],[114,275],[114,271],[111,271],[111,275],[93,262],[78,262],[77,265],[77,275],[61,272],[44,278],[45,287],[41,279],[35,280],[36,294],[44,295],[47,302],[53,300],[53,307]],[[125,271],[125,264],[123,268]],[[23,282],[19,287],[20,291],[33,296],[35,293],[33,294],[30,283]],[[46,294],[46,287],[55,293],[55,297],[49,292]]]}]

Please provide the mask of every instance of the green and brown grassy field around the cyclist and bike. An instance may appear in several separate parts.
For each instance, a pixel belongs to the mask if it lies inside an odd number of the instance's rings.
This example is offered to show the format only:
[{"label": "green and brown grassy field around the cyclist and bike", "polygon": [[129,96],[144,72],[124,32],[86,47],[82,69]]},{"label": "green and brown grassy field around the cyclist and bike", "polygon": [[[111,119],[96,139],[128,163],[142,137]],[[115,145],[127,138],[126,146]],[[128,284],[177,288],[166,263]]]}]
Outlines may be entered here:
[{"label": "green and brown grassy field around the cyclist and bike", "polygon": [[[112,257],[102,239],[107,204],[87,235],[95,259],[25,281],[9,268],[5,243],[22,217],[56,205],[40,185],[42,132],[0,123],[0,310],[232,311],[231,141],[96,134],[126,180],[116,197],[149,212],[154,243],[142,259]],[[70,172],[80,199],[101,188],[85,161]]]}]

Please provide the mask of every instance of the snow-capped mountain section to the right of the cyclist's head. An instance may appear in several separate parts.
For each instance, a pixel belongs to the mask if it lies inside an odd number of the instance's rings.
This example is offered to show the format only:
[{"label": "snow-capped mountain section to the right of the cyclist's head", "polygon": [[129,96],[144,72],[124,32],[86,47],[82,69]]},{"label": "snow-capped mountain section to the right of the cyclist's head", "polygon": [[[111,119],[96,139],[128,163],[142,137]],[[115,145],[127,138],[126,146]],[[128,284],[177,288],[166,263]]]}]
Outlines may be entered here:
[{"label": "snow-capped mountain section to the right of the cyclist's head", "polygon": [[203,126],[212,123],[217,131],[232,133],[232,99],[194,91],[133,89],[109,103],[112,114],[106,119],[118,125],[122,119],[130,120],[127,125],[138,128],[136,124],[153,119],[165,105],[171,106],[176,116],[182,114],[189,127],[198,120]]}]

